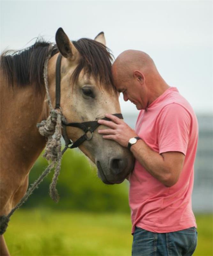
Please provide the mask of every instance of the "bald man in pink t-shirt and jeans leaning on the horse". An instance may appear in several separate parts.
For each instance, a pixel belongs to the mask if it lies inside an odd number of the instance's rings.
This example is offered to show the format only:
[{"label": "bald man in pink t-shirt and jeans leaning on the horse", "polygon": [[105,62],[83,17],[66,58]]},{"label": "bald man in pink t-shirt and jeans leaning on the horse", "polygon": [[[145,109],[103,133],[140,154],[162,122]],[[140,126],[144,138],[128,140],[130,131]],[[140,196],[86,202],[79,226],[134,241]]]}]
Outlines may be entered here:
[{"label": "bald man in pink t-shirt and jeans leaning on the horse", "polygon": [[135,130],[123,120],[99,120],[104,139],[128,147],[132,255],[192,255],[197,244],[191,195],[197,119],[190,104],[160,76],[145,52],[128,50],[112,65],[113,83],[140,110]]}]

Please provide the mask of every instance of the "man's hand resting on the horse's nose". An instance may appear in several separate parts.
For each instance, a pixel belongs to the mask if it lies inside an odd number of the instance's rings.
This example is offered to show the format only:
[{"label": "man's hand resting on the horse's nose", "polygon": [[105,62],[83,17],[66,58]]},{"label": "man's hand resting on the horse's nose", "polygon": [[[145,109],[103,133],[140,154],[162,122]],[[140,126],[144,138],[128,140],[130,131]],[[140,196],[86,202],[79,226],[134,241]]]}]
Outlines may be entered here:
[{"label": "man's hand resting on the horse's nose", "polygon": [[138,136],[135,131],[123,121],[123,119],[111,114],[106,114],[105,116],[110,118],[112,122],[102,119],[98,120],[99,124],[103,124],[110,128],[98,130],[98,133],[105,134],[103,135],[103,139],[115,140],[121,146],[127,147],[129,139]]}]

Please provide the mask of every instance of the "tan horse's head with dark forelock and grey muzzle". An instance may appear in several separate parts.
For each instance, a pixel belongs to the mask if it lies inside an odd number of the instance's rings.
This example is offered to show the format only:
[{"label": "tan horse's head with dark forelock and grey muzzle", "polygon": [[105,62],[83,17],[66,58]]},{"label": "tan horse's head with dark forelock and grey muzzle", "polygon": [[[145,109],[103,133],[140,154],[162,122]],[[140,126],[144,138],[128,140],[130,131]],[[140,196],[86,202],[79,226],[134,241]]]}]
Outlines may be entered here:
[{"label": "tan horse's head with dark forelock and grey muzzle", "polygon": [[[63,29],[59,28],[56,43],[63,56],[60,106],[67,122],[95,121],[103,118],[106,113],[121,113],[118,93],[111,82],[112,59],[104,45],[103,33],[96,36],[95,40],[82,38],[71,42]],[[55,72],[56,58],[57,55],[52,57],[54,65],[49,65],[49,74]],[[49,76],[52,99],[55,95],[54,79],[55,74]],[[97,165],[98,177],[104,183],[120,183],[133,169],[133,156],[127,148],[115,141],[104,140],[97,130],[92,139],[84,141],[79,148]],[[83,134],[76,127],[66,127],[66,132],[72,141]]]}]

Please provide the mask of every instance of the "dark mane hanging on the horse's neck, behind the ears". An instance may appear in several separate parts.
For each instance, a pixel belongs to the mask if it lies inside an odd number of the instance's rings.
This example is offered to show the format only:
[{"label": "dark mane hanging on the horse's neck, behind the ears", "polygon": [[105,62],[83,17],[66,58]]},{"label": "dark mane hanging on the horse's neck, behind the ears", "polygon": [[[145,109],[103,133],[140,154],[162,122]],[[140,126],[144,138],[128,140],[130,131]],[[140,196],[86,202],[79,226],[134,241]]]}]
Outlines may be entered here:
[{"label": "dark mane hanging on the horse's neck, behind the ears", "polygon": [[52,43],[41,39],[35,44],[19,51],[6,51],[1,55],[1,69],[12,86],[16,82],[18,86],[34,84],[36,91],[43,88],[43,66]]}]

